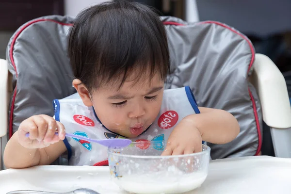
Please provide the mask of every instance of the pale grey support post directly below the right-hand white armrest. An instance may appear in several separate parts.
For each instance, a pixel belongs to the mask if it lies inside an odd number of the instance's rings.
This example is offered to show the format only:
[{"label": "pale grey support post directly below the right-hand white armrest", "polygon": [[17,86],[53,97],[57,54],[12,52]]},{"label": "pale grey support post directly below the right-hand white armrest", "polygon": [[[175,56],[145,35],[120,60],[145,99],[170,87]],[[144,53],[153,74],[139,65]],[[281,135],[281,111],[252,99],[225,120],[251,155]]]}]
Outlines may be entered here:
[{"label": "pale grey support post directly below the right-hand white armrest", "polygon": [[291,128],[270,129],[275,156],[280,158],[291,158]]}]

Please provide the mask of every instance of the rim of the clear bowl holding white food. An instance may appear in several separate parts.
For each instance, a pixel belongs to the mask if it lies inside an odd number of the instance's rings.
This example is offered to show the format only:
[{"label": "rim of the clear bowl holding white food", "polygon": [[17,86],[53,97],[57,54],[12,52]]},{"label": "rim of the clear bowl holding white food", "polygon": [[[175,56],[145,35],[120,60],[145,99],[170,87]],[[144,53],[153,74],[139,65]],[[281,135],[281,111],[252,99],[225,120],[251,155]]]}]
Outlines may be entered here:
[{"label": "rim of the clear bowl holding white food", "polygon": [[[158,142],[167,142],[167,141],[148,141],[150,143],[158,143]],[[133,142],[131,144],[141,144],[142,142]],[[109,147],[107,149],[107,153],[111,154],[113,156],[119,156],[123,158],[133,158],[133,159],[171,159],[171,158],[186,158],[186,157],[193,157],[193,156],[199,156],[199,155],[205,155],[207,153],[210,154],[210,146],[202,144],[202,147],[205,147],[206,149],[201,152],[196,152],[192,154],[184,154],[184,155],[175,155],[175,156],[140,156],[140,155],[128,155],[128,154],[120,154],[120,153],[113,153],[111,150],[116,148]]]}]

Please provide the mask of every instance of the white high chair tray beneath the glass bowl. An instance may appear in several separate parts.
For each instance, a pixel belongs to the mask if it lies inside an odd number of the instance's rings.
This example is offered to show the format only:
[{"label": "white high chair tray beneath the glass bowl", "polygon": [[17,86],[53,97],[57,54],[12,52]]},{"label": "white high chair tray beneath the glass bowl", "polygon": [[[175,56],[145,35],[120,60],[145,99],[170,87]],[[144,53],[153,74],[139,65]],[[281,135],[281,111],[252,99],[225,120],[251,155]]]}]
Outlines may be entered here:
[{"label": "white high chair tray beneath the glass bowl", "polygon": [[[110,181],[108,167],[37,166],[0,171],[0,194],[21,189],[67,192],[77,188],[126,194]],[[291,159],[257,156],[212,161],[201,188],[188,194],[291,194]]]}]

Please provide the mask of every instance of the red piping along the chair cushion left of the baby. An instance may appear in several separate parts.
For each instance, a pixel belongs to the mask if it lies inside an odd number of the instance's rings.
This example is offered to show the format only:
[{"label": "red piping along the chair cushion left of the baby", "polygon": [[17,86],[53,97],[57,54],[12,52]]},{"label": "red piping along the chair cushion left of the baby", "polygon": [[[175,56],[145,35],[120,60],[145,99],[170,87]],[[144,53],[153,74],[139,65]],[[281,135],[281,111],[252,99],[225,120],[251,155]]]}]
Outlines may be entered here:
[{"label": "red piping along the chair cushion left of the baby", "polygon": [[[55,22],[55,23],[58,23],[58,24],[61,24],[61,25],[64,25],[64,26],[72,26],[73,24],[66,24],[66,23],[62,23],[62,22],[59,22],[59,21],[55,21],[55,20],[52,20],[52,19],[36,19],[36,20],[33,20],[31,22],[28,22],[26,25],[24,25],[17,33],[16,35],[14,36],[12,42],[11,42],[11,46],[10,46],[10,50],[9,50],[9,58],[10,58],[10,61],[13,65],[13,68],[15,70],[15,73],[16,73],[16,79],[18,78],[18,72],[17,72],[17,69],[16,69],[16,65],[15,65],[15,62],[14,62],[14,58],[13,58],[13,49],[14,49],[14,44],[16,42],[16,39],[17,37],[19,36],[19,34],[25,30],[27,27],[29,27],[30,25],[36,23],[36,22],[42,22],[42,21],[51,21],[51,22]],[[16,85],[17,85],[17,81],[16,81]],[[13,125],[13,111],[14,111],[14,105],[15,105],[15,98],[16,98],[16,93],[17,93],[17,86],[15,86],[15,89],[14,89],[14,94],[13,94],[13,98],[12,98],[12,102],[11,102],[11,109],[10,109],[10,115],[9,115],[9,138],[11,138],[12,136],[12,125]]]}]

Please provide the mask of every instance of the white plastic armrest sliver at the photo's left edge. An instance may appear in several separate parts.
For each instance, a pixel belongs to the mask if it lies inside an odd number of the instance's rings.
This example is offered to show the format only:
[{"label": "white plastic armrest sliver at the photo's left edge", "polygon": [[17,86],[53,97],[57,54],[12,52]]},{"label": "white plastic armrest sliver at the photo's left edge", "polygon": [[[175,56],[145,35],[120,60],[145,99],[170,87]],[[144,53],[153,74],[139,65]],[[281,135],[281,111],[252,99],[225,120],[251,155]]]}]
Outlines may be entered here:
[{"label": "white plastic armrest sliver at the photo's left edge", "polygon": [[0,137],[7,133],[7,92],[8,92],[8,66],[6,60],[0,59]]}]

